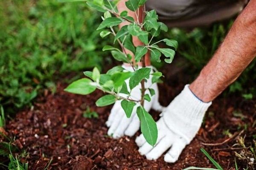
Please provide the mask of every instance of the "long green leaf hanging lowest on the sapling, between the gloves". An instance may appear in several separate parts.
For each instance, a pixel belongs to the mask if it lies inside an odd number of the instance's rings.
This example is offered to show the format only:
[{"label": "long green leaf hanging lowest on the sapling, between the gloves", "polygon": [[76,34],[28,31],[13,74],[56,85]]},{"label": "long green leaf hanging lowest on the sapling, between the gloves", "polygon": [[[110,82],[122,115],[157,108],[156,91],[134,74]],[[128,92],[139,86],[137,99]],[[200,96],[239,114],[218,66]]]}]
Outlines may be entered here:
[{"label": "long green leaf hanging lowest on the sapling, between the gloves", "polygon": [[141,106],[137,108],[140,119],[140,130],[148,144],[154,146],[157,142],[157,124],[152,116]]}]

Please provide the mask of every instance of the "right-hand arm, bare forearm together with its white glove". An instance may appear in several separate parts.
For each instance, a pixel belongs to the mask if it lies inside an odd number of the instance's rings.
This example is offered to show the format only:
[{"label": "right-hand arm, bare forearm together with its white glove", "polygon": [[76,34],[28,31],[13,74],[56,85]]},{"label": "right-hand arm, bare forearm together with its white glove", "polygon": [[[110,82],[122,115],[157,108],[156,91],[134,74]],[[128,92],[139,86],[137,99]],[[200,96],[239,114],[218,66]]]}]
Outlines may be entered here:
[{"label": "right-hand arm, bare forearm together with its white glove", "polygon": [[157,122],[158,138],[154,147],[143,135],[136,139],[139,152],[147,159],[157,159],[166,150],[166,162],[177,161],[184,147],[198,132],[204,114],[216,98],[232,83],[256,56],[256,0],[234,22],[227,37],[198,78],[175,97]]}]

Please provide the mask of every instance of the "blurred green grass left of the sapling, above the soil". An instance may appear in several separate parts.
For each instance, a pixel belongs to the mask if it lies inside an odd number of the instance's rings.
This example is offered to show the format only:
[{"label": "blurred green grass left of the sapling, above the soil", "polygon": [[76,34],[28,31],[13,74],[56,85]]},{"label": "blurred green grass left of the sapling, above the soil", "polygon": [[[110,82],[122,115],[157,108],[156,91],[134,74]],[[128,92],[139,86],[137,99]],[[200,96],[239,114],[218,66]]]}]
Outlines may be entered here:
[{"label": "blurred green grass left of the sapling, above the soil", "polygon": [[[0,1],[0,104],[21,108],[62,74],[98,66],[99,14],[85,3]],[[91,57],[94,56],[94,57]]]}]

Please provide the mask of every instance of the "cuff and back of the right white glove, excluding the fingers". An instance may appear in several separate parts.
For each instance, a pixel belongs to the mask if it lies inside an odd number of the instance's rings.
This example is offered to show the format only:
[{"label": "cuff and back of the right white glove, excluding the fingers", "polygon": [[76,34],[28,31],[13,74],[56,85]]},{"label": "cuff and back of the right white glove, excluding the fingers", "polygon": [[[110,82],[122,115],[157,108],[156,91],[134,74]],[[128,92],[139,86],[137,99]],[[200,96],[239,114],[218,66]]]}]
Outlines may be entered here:
[{"label": "cuff and back of the right white glove, excluding the fingers", "polygon": [[163,119],[167,127],[189,143],[199,130],[204,114],[212,102],[202,102],[185,85],[183,91],[166,108]]}]

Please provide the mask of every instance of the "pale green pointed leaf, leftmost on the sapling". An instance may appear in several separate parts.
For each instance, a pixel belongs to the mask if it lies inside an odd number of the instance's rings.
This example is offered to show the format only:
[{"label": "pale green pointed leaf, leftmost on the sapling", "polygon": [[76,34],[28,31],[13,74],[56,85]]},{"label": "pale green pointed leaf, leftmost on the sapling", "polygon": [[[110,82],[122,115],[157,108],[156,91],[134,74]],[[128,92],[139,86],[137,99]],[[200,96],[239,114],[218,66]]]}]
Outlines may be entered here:
[{"label": "pale green pointed leaf, leftmost on the sapling", "polygon": [[64,91],[82,95],[90,94],[96,89],[95,86],[90,85],[91,82],[92,81],[87,78],[79,79],[68,85],[67,88],[64,89]]}]

